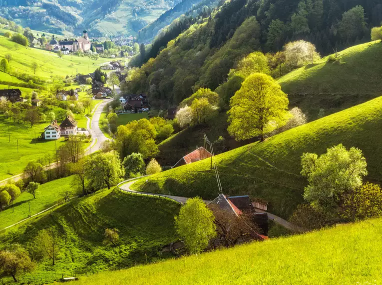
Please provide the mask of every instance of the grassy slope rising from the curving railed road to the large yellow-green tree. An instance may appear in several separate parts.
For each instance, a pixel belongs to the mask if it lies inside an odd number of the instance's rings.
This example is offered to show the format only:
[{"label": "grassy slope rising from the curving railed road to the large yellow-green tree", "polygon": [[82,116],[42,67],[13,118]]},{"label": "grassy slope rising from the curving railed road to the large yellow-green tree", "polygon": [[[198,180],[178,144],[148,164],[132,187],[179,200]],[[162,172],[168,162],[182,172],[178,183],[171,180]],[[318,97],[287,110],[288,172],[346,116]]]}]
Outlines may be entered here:
[{"label": "grassy slope rising from the curving railed road to the large yellow-green tree", "polygon": [[[380,132],[382,97],[215,156],[223,191],[250,194],[269,202],[269,210],[288,217],[303,201],[307,181],[300,175],[304,152],[324,153],[343,143],[363,150],[369,178],[382,181]],[[144,191],[213,198],[218,194],[210,160],[173,168],[134,184]]]}]

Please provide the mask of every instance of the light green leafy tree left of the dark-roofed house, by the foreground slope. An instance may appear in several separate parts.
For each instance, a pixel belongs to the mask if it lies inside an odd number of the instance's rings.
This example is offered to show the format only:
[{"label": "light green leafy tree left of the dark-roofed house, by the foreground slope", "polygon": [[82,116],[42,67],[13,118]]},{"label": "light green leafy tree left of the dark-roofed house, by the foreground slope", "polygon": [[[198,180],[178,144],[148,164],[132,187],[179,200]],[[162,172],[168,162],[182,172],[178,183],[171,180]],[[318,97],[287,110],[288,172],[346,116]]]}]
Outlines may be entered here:
[{"label": "light green leafy tree left of the dark-roofed house, by the foreground slope", "polygon": [[188,199],[175,216],[175,227],[190,253],[199,253],[216,236],[214,214],[199,198]]}]

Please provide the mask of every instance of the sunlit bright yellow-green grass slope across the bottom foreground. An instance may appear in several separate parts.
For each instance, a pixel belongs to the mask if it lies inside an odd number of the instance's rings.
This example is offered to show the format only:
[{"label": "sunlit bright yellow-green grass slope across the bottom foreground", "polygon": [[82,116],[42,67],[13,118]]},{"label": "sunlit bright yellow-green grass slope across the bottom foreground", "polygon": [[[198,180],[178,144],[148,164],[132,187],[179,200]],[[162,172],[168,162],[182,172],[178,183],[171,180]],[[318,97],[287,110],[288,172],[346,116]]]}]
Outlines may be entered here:
[{"label": "sunlit bright yellow-green grass slope across the bottom foreground", "polygon": [[380,284],[381,230],[381,219],[369,220],[103,272],[78,284]]}]

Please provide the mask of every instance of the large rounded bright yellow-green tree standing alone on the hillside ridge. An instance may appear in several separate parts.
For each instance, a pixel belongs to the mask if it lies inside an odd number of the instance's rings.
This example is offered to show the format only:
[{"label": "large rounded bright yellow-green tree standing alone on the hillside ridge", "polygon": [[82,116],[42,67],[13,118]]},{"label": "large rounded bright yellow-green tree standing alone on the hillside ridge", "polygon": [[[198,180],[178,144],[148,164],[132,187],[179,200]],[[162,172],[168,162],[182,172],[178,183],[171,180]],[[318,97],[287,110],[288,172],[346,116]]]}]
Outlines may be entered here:
[{"label": "large rounded bright yellow-green tree standing alone on the hillside ridge", "polygon": [[236,140],[264,135],[287,120],[288,97],[269,75],[254,73],[231,98],[228,132]]}]

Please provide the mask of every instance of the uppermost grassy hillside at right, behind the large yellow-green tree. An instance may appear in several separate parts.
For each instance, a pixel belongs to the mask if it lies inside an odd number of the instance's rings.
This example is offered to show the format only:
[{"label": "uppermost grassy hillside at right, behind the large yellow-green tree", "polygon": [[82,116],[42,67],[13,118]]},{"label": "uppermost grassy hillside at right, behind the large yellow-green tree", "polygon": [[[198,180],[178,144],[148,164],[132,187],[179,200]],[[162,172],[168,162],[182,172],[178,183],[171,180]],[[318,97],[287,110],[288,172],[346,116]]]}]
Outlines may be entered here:
[{"label": "uppermost grassy hillside at right, behind the large yellow-green tree", "polygon": [[317,118],[320,108],[327,114],[363,103],[382,93],[382,43],[359,44],[315,64],[296,69],[278,79],[289,94],[291,106],[299,106],[309,119]]}]

